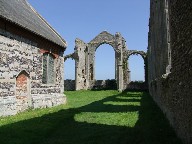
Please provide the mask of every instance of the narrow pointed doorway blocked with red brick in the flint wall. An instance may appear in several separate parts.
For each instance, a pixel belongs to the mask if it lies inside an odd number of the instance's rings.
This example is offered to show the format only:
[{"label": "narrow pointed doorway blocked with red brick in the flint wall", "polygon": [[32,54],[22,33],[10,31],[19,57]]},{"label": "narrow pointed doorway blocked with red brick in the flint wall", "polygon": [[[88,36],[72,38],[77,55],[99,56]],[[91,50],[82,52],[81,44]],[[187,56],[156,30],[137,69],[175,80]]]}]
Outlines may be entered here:
[{"label": "narrow pointed doorway blocked with red brick in the flint wall", "polygon": [[32,106],[30,89],[30,75],[22,70],[16,77],[15,95],[18,111],[24,111]]}]

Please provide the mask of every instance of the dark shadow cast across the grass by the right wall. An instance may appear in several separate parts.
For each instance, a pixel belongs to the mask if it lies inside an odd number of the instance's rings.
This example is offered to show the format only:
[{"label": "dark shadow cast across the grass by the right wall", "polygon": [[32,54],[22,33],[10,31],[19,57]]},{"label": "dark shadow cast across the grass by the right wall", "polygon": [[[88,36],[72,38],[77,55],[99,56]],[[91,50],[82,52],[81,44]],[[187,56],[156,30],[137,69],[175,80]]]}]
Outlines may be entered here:
[{"label": "dark shadow cast across the grass by the right wall", "polygon": [[[125,98],[125,99],[119,99]],[[129,99],[126,99],[129,97]],[[136,99],[138,98],[138,99]],[[139,102],[109,105],[106,102]],[[133,127],[79,122],[82,113],[138,112]],[[129,119],[127,119],[129,121]],[[180,144],[162,112],[147,93],[113,95],[80,108],[0,127],[0,144]]]}]

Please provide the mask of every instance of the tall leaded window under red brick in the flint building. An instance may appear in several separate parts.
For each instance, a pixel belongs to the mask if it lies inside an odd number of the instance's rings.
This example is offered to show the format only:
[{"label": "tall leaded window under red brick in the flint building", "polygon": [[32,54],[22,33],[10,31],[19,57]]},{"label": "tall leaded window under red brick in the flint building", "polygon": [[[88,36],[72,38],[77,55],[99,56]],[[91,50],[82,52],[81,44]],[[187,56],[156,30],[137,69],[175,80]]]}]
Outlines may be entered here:
[{"label": "tall leaded window under red brick in the flint building", "polygon": [[55,57],[50,53],[43,54],[43,78],[44,84],[53,84],[55,82],[54,74],[54,59]]}]

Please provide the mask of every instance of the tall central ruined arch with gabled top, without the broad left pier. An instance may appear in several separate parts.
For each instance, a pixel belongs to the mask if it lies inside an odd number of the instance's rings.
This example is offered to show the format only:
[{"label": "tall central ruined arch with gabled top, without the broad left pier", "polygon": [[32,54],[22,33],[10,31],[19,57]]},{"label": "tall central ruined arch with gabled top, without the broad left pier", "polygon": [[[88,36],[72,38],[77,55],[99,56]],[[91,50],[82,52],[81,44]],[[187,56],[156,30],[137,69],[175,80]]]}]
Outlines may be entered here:
[{"label": "tall central ruined arch with gabled top, without the broad left pier", "polygon": [[115,79],[117,81],[118,90],[124,89],[123,82],[123,53],[126,52],[125,40],[120,33],[112,35],[107,31],[101,32],[93,40],[87,44],[87,79],[88,88],[91,89],[95,84],[95,52],[102,44],[110,45],[115,51]]}]

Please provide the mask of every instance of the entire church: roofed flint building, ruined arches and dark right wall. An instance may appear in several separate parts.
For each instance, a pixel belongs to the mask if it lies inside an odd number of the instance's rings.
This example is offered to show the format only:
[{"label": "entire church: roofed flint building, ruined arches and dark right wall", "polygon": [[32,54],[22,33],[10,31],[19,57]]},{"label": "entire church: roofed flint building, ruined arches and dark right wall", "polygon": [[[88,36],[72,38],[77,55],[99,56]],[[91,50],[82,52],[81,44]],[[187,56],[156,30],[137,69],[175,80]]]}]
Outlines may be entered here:
[{"label": "entire church: roofed flint building, ruined arches and dark right wall", "polygon": [[66,41],[26,0],[0,0],[0,116],[27,108],[66,102],[64,61],[76,61],[76,90],[94,85],[97,48],[110,44],[116,55],[120,91],[129,83],[127,58],[140,54],[149,93],[186,144],[192,143],[192,1],[150,0],[147,52],[126,48],[120,33],[101,32],[89,43],[75,41],[63,56]]}]

